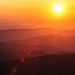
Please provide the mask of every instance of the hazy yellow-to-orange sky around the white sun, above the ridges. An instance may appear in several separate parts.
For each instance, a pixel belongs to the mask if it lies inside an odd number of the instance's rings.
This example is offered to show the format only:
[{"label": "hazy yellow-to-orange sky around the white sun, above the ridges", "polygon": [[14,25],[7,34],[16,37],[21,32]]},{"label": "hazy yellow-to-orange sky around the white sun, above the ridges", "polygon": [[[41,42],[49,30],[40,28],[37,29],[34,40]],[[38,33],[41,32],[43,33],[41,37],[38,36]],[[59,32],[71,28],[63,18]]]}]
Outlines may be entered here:
[{"label": "hazy yellow-to-orange sky around the white sun, above the ridges", "polygon": [[0,29],[37,27],[75,29],[75,0],[0,0]]}]

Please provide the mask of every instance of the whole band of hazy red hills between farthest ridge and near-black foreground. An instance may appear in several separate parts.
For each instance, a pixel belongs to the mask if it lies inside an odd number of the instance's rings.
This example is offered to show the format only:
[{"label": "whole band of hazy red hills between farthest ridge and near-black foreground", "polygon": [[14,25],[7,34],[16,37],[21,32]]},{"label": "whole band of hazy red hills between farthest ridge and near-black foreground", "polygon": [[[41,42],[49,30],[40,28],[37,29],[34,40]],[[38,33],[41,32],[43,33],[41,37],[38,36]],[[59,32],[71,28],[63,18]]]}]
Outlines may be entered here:
[{"label": "whole band of hazy red hills between farthest ridge and near-black foreground", "polygon": [[[75,36],[45,35],[27,40],[0,43],[0,60],[45,54],[75,53]],[[28,52],[29,56],[24,53]]]}]

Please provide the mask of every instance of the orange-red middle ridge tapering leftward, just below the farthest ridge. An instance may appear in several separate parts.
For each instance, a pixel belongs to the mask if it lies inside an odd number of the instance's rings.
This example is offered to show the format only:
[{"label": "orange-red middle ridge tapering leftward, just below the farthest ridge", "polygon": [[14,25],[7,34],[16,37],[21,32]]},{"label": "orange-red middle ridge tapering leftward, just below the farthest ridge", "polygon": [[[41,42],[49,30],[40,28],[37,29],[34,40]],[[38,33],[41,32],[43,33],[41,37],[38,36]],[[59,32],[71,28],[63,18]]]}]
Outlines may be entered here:
[{"label": "orange-red middle ridge tapering leftward, just below the farthest ridge", "polygon": [[75,50],[75,36],[60,36],[60,35],[45,35],[33,37],[23,41],[16,41],[16,43],[24,43],[27,45],[45,45],[56,46],[61,49],[74,51]]}]

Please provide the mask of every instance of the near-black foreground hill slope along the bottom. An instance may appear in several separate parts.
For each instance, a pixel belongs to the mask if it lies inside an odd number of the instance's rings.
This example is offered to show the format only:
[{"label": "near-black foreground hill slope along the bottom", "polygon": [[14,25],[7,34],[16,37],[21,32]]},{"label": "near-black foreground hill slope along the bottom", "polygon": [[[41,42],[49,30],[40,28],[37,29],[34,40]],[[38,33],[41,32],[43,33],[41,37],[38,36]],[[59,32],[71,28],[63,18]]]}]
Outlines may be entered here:
[{"label": "near-black foreground hill slope along the bottom", "polygon": [[3,62],[0,63],[0,75],[75,75],[75,54]]}]

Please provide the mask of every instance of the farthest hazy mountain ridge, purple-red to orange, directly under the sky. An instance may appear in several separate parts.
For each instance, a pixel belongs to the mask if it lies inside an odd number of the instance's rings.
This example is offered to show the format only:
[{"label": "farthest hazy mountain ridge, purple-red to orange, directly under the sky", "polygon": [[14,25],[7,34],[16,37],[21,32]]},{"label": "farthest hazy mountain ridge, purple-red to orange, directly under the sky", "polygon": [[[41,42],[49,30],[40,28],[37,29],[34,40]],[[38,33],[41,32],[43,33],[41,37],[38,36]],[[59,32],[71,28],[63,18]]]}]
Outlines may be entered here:
[{"label": "farthest hazy mountain ridge, purple-red to orange, directly under the sky", "polygon": [[52,28],[0,30],[0,42],[25,40],[32,37],[48,34],[70,36],[75,35],[75,30],[57,30]]}]

